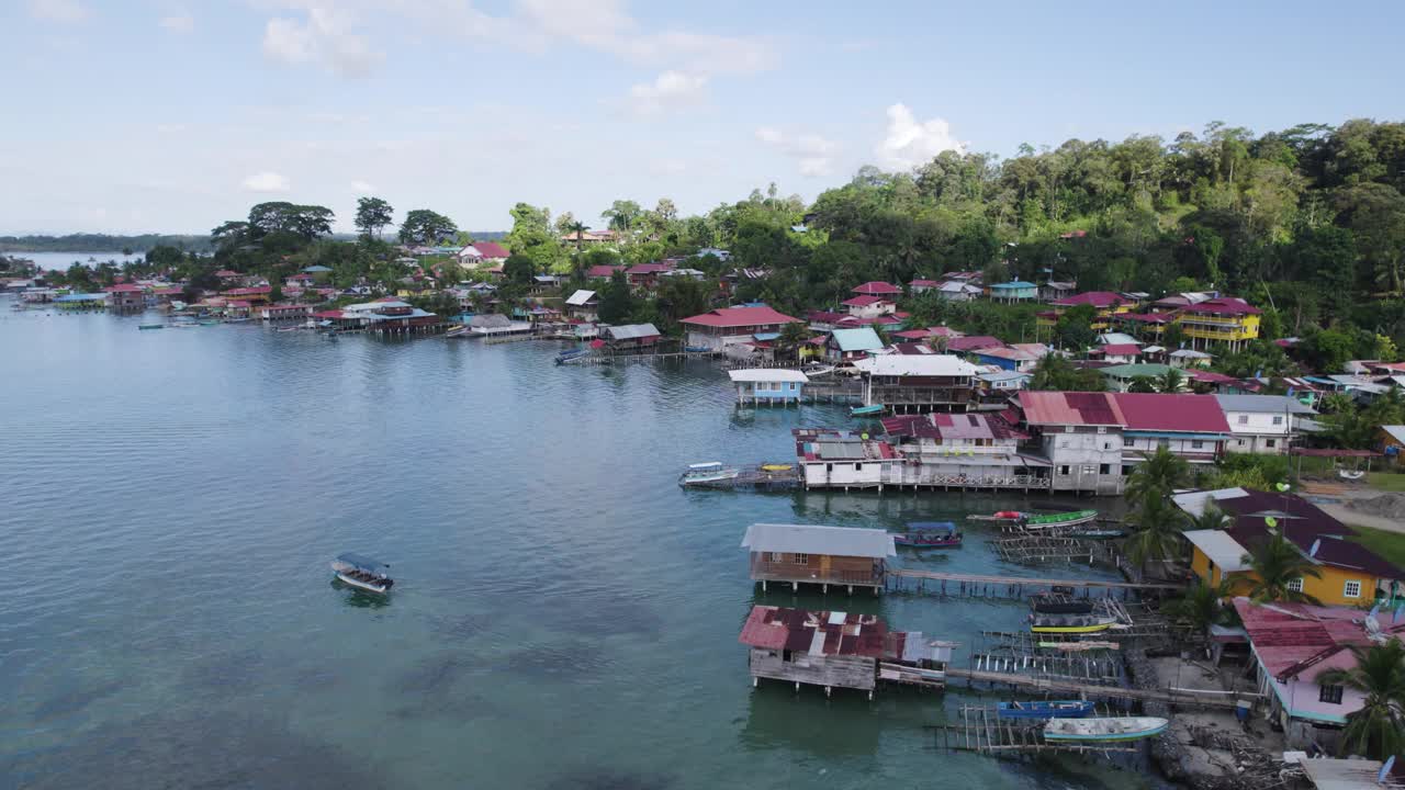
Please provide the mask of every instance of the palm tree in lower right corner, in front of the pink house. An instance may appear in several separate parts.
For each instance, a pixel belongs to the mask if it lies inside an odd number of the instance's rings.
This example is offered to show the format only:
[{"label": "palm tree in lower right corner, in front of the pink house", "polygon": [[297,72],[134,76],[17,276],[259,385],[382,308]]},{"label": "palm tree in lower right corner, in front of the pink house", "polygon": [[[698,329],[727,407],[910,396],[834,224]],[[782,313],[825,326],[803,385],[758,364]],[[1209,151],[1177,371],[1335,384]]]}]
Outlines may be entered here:
[{"label": "palm tree in lower right corner, in front of the pink house", "polygon": [[1319,686],[1346,686],[1366,696],[1366,703],[1346,714],[1342,753],[1383,760],[1405,749],[1405,645],[1391,640],[1368,648],[1353,647],[1356,666],[1328,669]]}]

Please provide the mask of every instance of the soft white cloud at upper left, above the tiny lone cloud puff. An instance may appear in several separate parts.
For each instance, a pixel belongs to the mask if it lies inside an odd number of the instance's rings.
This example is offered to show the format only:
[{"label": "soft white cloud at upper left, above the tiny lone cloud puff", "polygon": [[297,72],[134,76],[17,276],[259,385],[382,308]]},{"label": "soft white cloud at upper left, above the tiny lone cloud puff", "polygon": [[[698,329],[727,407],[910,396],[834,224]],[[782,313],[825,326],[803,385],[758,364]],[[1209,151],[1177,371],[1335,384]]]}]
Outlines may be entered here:
[{"label": "soft white cloud at upper left, above the tiny lone cloud puff", "polygon": [[365,76],[385,55],[353,32],[355,24],[355,14],[322,6],[308,8],[306,20],[274,17],[264,25],[264,55],[291,65],[320,62],[344,77]]}]

